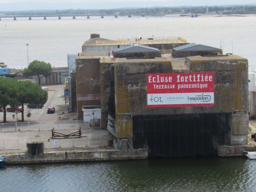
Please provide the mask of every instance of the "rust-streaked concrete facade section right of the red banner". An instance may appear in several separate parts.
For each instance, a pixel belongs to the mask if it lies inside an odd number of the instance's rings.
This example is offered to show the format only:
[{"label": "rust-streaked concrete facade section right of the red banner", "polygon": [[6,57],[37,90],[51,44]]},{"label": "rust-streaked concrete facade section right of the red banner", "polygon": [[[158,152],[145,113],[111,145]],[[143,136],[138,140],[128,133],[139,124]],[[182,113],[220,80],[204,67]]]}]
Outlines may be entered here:
[{"label": "rust-streaked concrete facade section right of the red banner", "polygon": [[[190,71],[214,72],[214,106],[203,107],[202,111],[232,112],[247,110],[248,103],[248,61],[242,57],[220,56],[215,60],[193,59],[190,61]],[[196,58],[196,57],[194,57]]]}]

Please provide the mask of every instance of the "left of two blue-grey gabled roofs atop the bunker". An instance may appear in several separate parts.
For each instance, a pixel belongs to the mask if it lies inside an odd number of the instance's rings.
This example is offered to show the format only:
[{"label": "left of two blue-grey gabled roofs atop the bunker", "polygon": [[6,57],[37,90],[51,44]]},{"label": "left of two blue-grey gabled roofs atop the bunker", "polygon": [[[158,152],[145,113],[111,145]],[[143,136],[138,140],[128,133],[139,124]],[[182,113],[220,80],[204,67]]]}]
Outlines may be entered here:
[{"label": "left of two blue-grey gabled roofs atop the bunker", "polygon": [[153,48],[150,46],[145,46],[141,44],[130,44],[113,50],[114,53],[117,52],[159,52],[158,48]]}]

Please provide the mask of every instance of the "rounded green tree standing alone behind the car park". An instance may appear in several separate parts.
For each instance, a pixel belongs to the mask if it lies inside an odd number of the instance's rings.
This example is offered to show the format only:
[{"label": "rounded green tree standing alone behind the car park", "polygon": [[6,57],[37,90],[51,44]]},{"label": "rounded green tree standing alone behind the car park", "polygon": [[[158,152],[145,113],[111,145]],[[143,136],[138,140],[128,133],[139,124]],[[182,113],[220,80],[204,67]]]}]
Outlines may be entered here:
[{"label": "rounded green tree standing alone behind the car park", "polygon": [[40,75],[44,77],[48,77],[49,75],[51,75],[51,73],[52,73],[52,70],[51,70],[50,63],[46,63],[40,60],[33,60],[32,62],[29,63],[27,68],[24,68],[23,70],[24,76],[36,75],[38,77],[39,85],[41,84]]}]

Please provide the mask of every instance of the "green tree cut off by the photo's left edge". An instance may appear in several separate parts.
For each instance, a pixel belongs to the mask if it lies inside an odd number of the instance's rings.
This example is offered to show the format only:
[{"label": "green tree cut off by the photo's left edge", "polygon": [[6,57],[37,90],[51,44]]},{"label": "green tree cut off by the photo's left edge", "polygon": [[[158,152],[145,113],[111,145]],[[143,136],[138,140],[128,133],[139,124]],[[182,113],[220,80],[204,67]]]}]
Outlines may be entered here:
[{"label": "green tree cut off by the photo's left edge", "polygon": [[3,122],[6,122],[6,106],[17,106],[19,101],[17,80],[9,77],[0,77],[0,105],[3,107]]}]

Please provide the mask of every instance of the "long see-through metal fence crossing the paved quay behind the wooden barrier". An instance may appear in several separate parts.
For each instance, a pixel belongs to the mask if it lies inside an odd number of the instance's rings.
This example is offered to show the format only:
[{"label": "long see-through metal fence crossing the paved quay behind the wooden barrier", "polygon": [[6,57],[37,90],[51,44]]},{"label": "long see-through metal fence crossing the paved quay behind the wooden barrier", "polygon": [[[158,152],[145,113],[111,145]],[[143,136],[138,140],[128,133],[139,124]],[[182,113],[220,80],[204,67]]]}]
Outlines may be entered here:
[{"label": "long see-through metal fence crossing the paved quay behind the wooden barrier", "polygon": [[0,123],[0,132],[3,131],[30,131],[30,130],[55,130],[77,129],[79,127],[88,126],[83,120],[57,120],[43,122],[9,122]]}]

